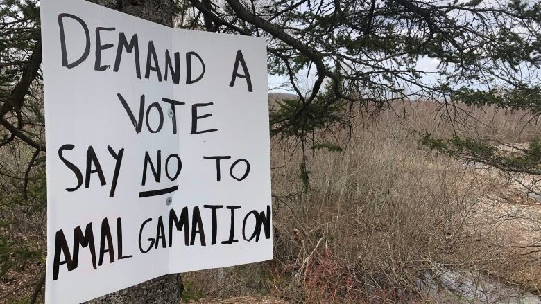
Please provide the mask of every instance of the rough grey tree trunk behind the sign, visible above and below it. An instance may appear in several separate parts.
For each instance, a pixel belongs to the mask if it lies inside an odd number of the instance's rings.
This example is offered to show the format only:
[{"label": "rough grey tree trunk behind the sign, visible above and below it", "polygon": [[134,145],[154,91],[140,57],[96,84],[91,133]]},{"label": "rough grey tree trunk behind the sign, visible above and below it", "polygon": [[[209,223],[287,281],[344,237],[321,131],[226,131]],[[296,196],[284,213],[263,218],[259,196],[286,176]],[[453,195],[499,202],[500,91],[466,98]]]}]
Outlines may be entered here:
[{"label": "rough grey tree trunk behind the sign, visible above and below it", "polygon": [[[165,26],[173,24],[173,0],[89,1]],[[182,281],[180,274],[169,274],[96,298],[88,301],[87,304],[178,304],[181,294]]]}]

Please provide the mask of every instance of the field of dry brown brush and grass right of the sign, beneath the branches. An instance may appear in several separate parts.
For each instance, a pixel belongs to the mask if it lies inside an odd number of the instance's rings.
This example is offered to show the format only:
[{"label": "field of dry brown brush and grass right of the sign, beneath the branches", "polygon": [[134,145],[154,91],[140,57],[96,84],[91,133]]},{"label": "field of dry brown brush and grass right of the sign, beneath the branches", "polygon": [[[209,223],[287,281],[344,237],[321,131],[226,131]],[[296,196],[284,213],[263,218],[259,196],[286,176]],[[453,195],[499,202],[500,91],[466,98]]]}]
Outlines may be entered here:
[{"label": "field of dry brown brush and grass right of the sign, beneath the branches", "polygon": [[[203,287],[209,296],[244,287],[298,303],[453,303],[452,293],[426,288],[445,267],[539,293],[540,256],[530,252],[541,241],[539,206],[510,195],[501,176],[418,145],[424,132],[526,142],[541,134],[528,119],[492,108],[397,105],[377,123],[358,121],[344,152],[310,151],[309,188],[298,147],[275,141],[275,259],[185,278],[211,280],[212,290]],[[334,129],[337,138],[345,133]]]}]

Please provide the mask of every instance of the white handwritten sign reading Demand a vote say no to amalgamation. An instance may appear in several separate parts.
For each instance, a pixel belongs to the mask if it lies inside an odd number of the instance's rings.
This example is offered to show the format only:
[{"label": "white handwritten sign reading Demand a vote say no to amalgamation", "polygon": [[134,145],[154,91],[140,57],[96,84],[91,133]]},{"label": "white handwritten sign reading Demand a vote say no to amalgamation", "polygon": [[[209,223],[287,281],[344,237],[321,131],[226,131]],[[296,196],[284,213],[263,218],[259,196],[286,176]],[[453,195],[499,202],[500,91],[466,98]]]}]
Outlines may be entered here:
[{"label": "white handwritten sign reading Demand a vote say no to amalgamation", "polygon": [[41,2],[47,303],[272,258],[264,38]]}]

